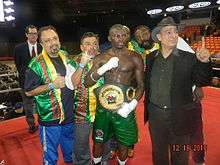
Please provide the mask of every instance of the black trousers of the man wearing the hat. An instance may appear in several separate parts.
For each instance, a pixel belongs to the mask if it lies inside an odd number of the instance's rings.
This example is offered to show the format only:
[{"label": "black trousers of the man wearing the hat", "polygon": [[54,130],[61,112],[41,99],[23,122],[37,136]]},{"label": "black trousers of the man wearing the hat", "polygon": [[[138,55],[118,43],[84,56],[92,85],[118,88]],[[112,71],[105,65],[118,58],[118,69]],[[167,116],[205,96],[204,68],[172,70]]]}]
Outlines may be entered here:
[{"label": "black trousers of the man wearing the hat", "polygon": [[188,165],[190,135],[175,135],[171,109],[148,105],[149,131],[154,165]]}]

